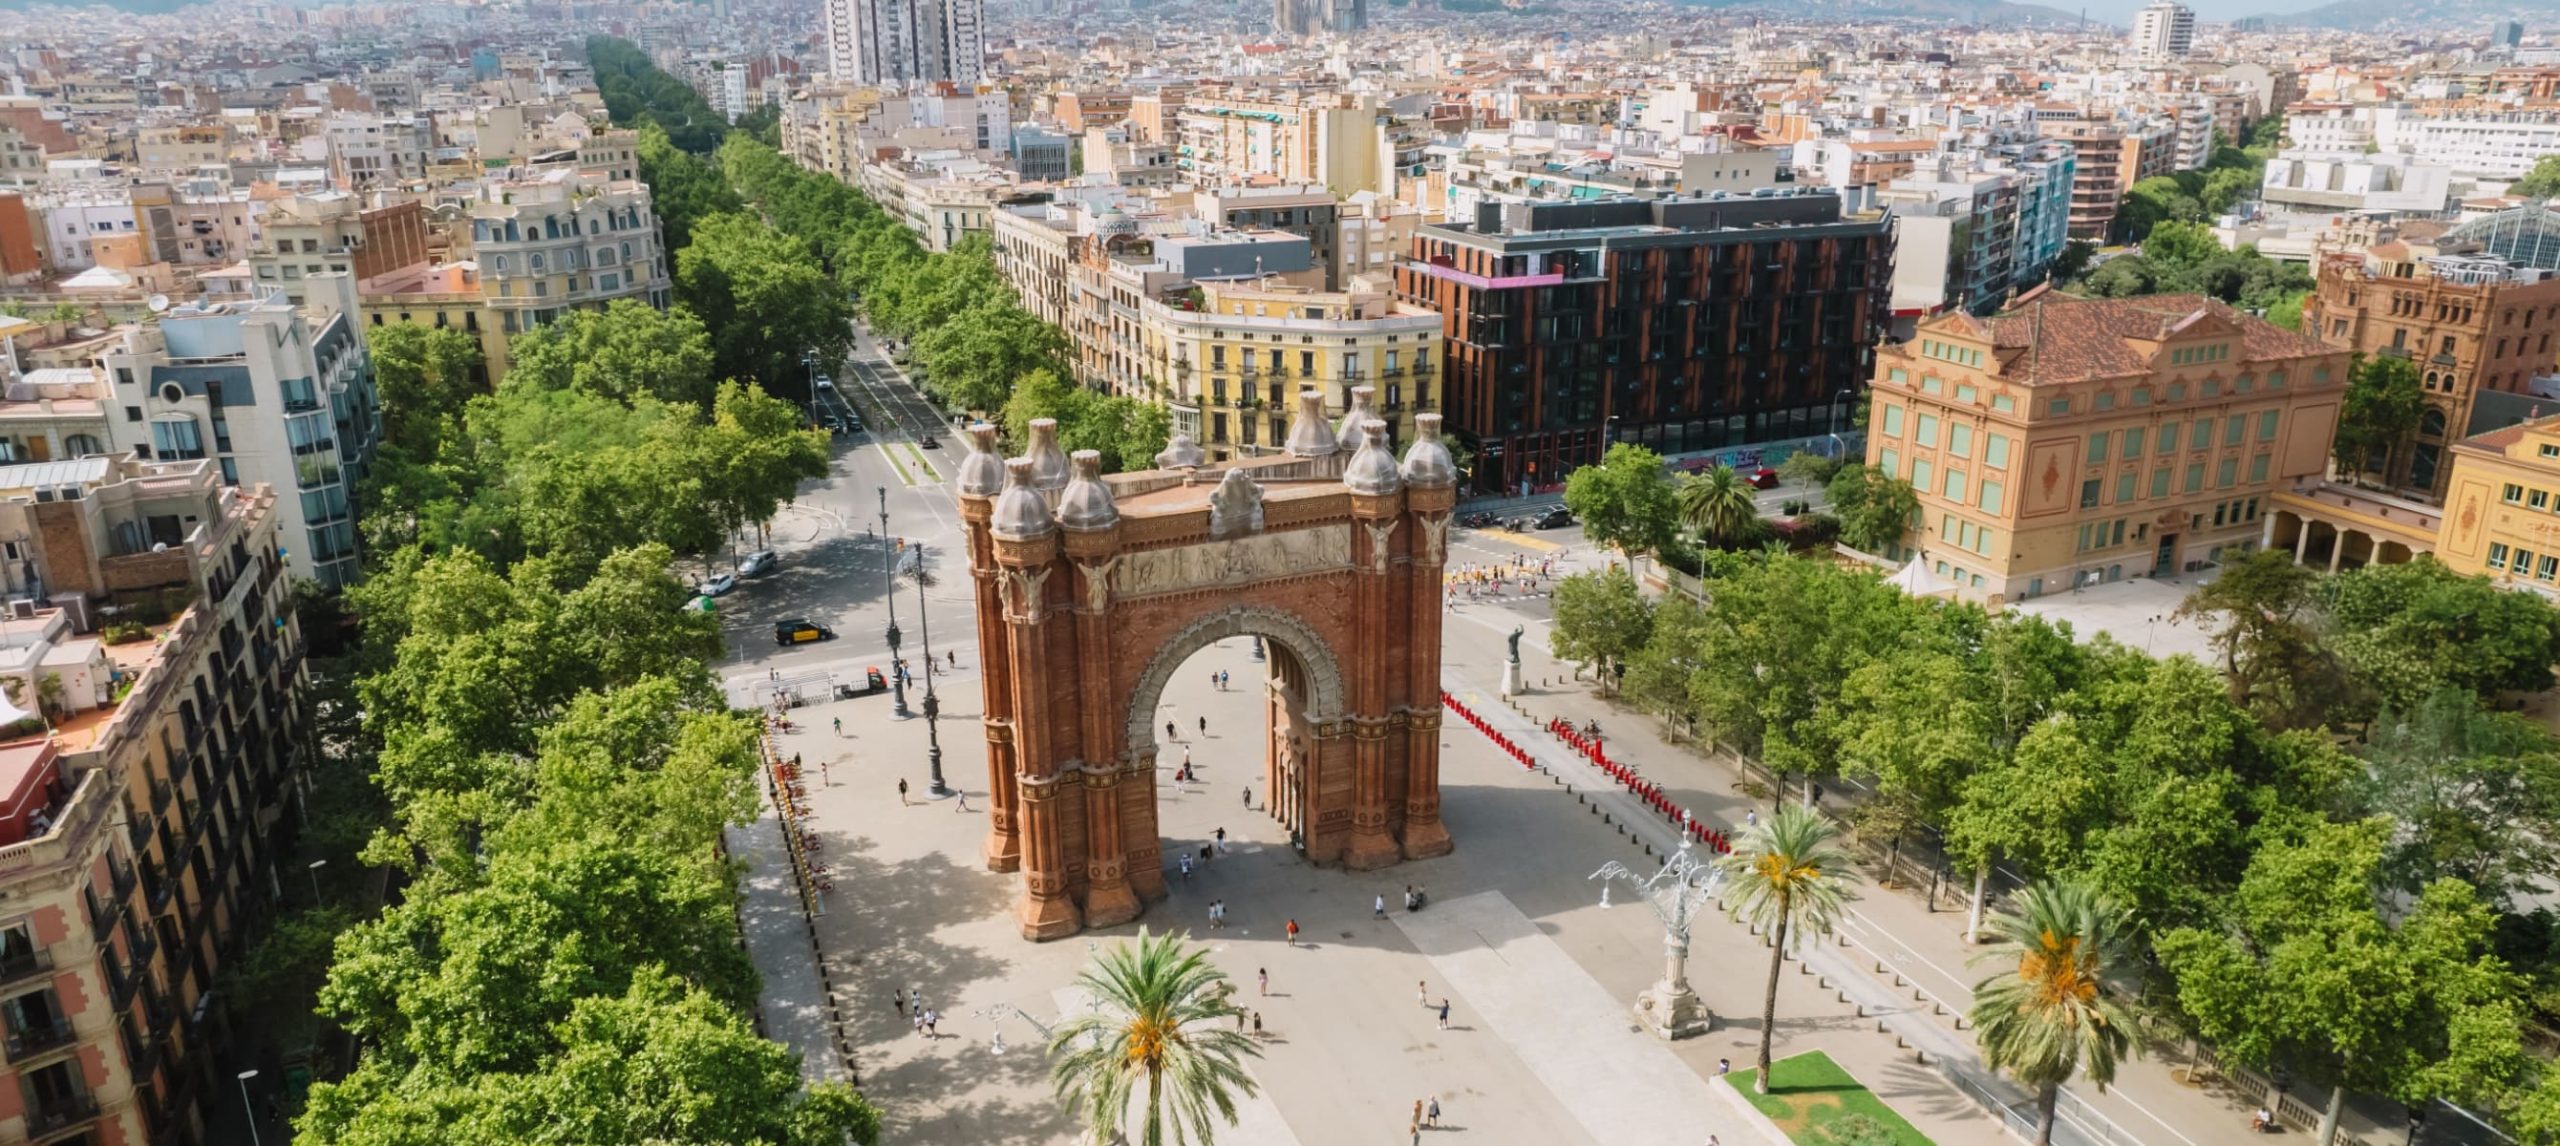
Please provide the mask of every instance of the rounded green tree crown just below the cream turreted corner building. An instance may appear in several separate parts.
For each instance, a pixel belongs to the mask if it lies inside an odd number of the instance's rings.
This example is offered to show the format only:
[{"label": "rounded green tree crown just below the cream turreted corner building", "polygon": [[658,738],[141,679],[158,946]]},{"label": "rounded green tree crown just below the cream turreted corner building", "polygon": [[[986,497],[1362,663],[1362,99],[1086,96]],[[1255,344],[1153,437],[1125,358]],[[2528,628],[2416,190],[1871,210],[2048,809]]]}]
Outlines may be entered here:
[{"label": "rounded green tree crown just below the cream turreted corner building", "polygon": [[507,343],[507,386],[576,389],[632,404],[712,404],[712,333],[684,307],[614,299]]}]

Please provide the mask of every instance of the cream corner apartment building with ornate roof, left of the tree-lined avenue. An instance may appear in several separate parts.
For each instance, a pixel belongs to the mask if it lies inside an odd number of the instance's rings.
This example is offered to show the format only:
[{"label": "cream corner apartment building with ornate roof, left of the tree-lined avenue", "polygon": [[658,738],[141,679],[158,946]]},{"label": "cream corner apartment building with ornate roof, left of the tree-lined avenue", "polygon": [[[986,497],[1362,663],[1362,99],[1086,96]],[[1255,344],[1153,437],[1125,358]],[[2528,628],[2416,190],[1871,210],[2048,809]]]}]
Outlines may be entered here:
[{"label": "cream corner apartment building with ornate roof, left of the tree-lined avenue", "polygon": [[468,217],[481,292],[502,335],[612,299],[666,310],[673,276],[643,182],[576,169],[492,179]]}]

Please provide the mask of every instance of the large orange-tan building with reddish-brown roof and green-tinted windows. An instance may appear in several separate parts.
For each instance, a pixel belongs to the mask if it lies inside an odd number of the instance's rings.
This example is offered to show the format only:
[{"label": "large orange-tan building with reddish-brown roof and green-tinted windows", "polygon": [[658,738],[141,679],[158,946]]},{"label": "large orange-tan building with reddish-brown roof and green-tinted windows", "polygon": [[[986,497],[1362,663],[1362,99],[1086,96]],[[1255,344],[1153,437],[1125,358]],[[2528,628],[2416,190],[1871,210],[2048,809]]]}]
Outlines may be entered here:
[{"label": "large orange-tan building with reddish-brown roof and green-tinted windows", "polygon": [[2348,363],[2194,294],[1920,322],[1869,396],[1866,463],[1920,496],[1889,558],[1999,606],[2250,550],[2324,473]]}]

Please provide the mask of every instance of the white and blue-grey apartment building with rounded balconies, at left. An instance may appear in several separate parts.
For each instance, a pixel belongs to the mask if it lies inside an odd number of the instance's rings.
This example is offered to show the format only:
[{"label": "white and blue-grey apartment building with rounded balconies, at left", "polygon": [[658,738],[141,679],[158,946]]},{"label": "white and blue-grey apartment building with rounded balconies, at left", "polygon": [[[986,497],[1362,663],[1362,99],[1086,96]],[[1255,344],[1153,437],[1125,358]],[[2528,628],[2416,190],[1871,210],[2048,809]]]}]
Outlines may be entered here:
[{"label": "white and blue-grey apartment building with rounded balconies, at left", "polygon": [[100,356],[100,402],[113,407],[110,453],[210,460],[225,483],[289,491],[276,530],[292,573],[346,586],[358,576],[351,499],[381,437],[381,402],[356,281],[323,279],[328,302],[310,310],[271,294],[120,327]]}]

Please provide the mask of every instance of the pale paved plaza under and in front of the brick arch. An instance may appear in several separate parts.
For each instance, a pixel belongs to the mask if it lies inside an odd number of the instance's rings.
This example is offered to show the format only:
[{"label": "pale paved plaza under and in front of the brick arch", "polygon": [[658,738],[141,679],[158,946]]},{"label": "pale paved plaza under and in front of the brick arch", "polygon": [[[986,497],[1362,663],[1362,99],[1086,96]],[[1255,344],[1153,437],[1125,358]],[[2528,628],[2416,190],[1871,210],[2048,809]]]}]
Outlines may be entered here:
[{"label": "pale paved plaza under and in front of the brick arch", "polygon": [[[937,678],[945,773],[983,796],[973,650],[960,660]],[[1452,652],[1452,670],[1459,660]],[[1213,670],[1229,670],[1234,688],[1213,688]],[[781,747],[819,780],[812,816],[837,888],[817,934],[852,1067],[888,1113],[883,1141],[1075,1141],[1047,1092],[1039,1031],[1075,1008],[1073,980],[1098,944],[1139,926],[1183,929],[1208,944],[1244,1005],[1262,1016],[1265,1056],[1252,1062],[1262,1095],[1244,1103],[1221,1143],[1403,1141],[1413,1103],[1426,1097],[1441,1105],[1434,1136],[1482,1143],[1695,1146],[1708,1133],[1756,1141],[1708,1079],[1718,1059],[1746,1067],[1756,1054],[1766,946],[1720,918],[1702,923],[1690,967],[1718,1013],[1715,1031],[1682,1044],[1644,1033],[1628,1005],[1661,967],[1661,926],[1623,890],[1618,908],[1603,911],[1587,875],[1608,860],[1654,860],[1559,783],[1523,773],[1457,721],[1444,732],[1457,854],[1364,875],[1298,860],[1277,824],[1244,803],[1262,775],[1252,691],[1260,673],[1249,642],[1213,645],[1183,665],[1160,716],[1183,729],[1160,773],[1165,854],[1188,847],[1198,860],[1216,829],[1226,829],[1229,852],[1196,862],[1190,880],[1167,872],[1172,895],[1139,923],[1055,944],[1016,934],[1016,877],[978,862],[978,803],[960,811],[957,801],[924,798],[922,719],[891,719],[886,696],[796,714],[801,732],[783,734]],[[832,732],[837,716],[842,737]],[[1172,770],[1185,747],[1201,783],[1178,788]],[[901,778],[914,793],[909,806],[899,803]],[[1260,803],[1262,793],[1252,796]],[[1398,911],[1408,883],[1431,893],[1421,913]],[[763,893],[750,890],[750,900]],[[1385,921],[1372,913],[1377,895],[1390,908]],[[1226,929],[1208,926],[1211,900],[1226,900]],[[806,952],[806,929],[791,913],[750,906],[748,918],[771,931],[750,936],[760,959]],[[1303,929],[1295,946],[1283,941],[1290,918]],[[1267,995],[1257,995],[1260,972],[1270,975]],[[911,1031],[891,1003],[899,987],[922,990],[940,1010],[940,1039]],[[827,1059],[824,1023],[806,1021],[822,1005],[786,998],[806,982],[768,982],[768,1023]],[[1436,1018],[1441,998],[1452,1010],[1446,1031]],[[1828,1049],[1940,1141],[1989,1138],[1992,1123],[1971,1103],[1792,964],[1779,1016],[1779,1054]]]}]

